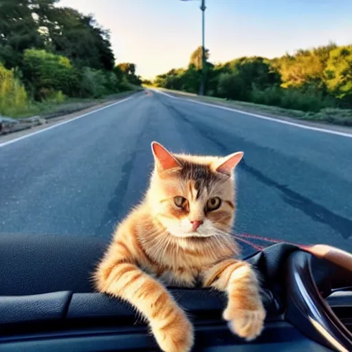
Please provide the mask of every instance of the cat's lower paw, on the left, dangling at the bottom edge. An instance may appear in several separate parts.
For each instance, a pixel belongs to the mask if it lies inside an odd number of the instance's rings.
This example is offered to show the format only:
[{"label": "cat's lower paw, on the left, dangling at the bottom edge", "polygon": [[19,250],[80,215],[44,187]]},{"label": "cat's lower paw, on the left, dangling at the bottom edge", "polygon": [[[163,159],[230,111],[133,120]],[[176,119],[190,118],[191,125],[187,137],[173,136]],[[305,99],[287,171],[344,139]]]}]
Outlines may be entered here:
[{"label": "cat's lower paw, on the left, dangling at the bottom edge", "polygon": [[177,309],[168,314],[167,321],[152,323],[153,335],[165,352],[188,352],[193,346],[193,327],[184,311]]}]

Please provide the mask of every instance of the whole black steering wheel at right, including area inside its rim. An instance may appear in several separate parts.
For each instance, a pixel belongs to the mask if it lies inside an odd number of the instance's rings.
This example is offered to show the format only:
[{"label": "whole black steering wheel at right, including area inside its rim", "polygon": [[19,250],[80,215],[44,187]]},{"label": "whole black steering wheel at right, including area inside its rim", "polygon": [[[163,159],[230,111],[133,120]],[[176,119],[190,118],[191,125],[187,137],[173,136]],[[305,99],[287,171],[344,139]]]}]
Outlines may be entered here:
[{"label": "whole black steering wheel at right, including area inside its rim", "polygon": [[352,333],[325,300],[336,281],[338,287],[352,286],[352,255],[314,245],[289,254],[286,273],[286,319],[333,351],[352,351]]}]

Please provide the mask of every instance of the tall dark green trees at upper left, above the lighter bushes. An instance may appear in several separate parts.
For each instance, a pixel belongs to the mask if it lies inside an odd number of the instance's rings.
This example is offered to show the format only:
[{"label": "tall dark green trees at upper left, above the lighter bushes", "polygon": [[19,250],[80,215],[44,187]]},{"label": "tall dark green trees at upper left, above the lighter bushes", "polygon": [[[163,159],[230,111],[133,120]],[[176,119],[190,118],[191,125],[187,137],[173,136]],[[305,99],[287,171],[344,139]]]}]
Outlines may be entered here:
[{"label": "tall dark green trees at upper left, above the lighter bushes", "polygon": [[93,16],[54,6],[57,0],[2,0],[0,61],[21,67],[26,49],[66,56],[78,67],[112,70],[115,62],[109,31]]}]

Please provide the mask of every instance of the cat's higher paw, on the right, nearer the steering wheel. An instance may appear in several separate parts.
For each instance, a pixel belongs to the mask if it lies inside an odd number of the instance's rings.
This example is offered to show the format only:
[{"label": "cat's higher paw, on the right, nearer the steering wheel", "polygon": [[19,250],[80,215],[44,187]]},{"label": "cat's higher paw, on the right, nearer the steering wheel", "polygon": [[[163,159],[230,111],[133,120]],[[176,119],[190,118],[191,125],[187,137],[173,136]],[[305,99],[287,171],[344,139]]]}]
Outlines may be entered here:
[{"label": "cat's higher paw, on the right, nearer the steering wheel", "polygon": [[254,340],[261,335],[265,316],[263,305],[259,305],[254,310],[229,306],[223,312],[223,318],[230,322],[232,332],[247,341]]}]

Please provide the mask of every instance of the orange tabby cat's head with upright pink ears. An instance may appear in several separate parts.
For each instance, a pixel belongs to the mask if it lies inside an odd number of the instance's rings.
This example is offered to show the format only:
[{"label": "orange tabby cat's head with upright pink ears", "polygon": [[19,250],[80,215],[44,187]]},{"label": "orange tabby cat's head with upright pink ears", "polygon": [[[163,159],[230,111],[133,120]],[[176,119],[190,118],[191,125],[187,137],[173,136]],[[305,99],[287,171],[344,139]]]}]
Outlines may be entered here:
[{"label": "orange tabby cat's head with upright pink ears", "polygon": [[155,167],[147,200],[153,216],[176,237],[229,232],[234,221],[234,168],[243,152],[226,157],[173,154],[152,143]]}]

